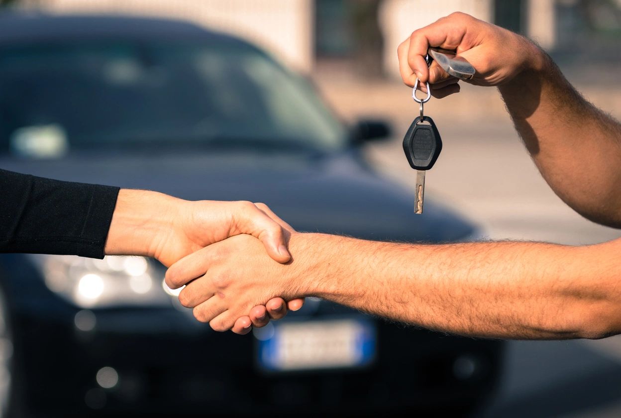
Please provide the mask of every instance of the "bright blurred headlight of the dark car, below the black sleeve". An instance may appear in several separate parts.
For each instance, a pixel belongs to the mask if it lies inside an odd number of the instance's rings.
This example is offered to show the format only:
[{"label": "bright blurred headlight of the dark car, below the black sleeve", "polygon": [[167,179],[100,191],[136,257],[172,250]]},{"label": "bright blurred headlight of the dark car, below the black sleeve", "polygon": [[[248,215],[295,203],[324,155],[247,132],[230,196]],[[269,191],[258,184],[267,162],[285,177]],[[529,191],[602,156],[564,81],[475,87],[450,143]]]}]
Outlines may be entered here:
[{"label": "bright blurred headlight of the dark car, below the black sleeve", "polygon": [[48,289],[81,308],[171,306],[181,289],[164,283],[161,268],[145,257],[31,255]]}]

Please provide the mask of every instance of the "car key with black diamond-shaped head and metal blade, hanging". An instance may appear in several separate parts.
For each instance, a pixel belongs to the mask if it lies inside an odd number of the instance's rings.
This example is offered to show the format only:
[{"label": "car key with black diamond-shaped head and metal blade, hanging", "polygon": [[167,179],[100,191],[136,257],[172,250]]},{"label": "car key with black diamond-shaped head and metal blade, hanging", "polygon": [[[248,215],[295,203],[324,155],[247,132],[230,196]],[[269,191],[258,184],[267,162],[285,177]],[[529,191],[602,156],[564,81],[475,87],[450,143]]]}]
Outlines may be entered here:
[{"label": "car key with black diamond-shaped head and metal blade, hanging", "polygon": [[417,117],[403,139],[407,162],[417,170],[414,213],[422,214],[425,197],[425,172],[433,167],[442,151],[442,138],[435,122],[428,116]]}]

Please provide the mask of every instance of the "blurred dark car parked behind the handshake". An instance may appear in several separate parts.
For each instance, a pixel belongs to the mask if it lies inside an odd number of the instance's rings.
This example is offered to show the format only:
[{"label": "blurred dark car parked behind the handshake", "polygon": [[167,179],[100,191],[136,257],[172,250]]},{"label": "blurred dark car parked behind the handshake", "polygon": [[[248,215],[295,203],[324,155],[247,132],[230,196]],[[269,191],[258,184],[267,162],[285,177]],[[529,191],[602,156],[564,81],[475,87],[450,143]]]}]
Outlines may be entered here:
[{"label": "blurred dark car parked behind the handshake", "polygon": [[[371,170],[363,144],[387,134],[379,122],[348,129],[305,78],[229,35],[163,19],[0,15],[6,170],[262,201],[305,231],[476,237],[431,199],[414,216],[410,193]],[[499,375],[499,342],[318,299],[253,334],[217,333],[164,273],[142,257],[0,255],[2,416],[463,412]]]}]

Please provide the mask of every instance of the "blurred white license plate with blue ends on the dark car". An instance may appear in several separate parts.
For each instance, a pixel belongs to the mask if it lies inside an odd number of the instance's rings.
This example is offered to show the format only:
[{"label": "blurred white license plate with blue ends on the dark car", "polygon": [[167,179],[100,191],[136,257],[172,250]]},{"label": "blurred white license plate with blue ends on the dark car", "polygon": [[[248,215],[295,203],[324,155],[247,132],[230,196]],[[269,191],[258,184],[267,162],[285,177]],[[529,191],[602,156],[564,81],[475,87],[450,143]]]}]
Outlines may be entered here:
[{"label": "blurred white license plate with blue ends on the dark car", "polygon": [[375,327],[367,320],[271,322],[255,337],[258,363],[271,371],[357,368],[376,352]]}]

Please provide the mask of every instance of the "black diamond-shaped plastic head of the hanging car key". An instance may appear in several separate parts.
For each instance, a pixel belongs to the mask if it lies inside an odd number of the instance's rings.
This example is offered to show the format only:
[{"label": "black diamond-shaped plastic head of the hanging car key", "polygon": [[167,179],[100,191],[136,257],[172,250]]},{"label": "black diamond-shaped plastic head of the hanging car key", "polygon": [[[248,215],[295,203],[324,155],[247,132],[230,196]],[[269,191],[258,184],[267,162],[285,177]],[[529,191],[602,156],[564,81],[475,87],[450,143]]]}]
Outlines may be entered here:
[{"label": "black diamond-shaped plastic head of the hanging car key", "polygon": [[[424,122],[427,122],[425,124]],[[429,170],[442,151],[442,139],[433,119],[420,116],[414,119],[403,139],[407,162],[414,170]]]}]

